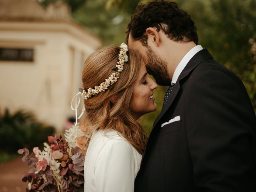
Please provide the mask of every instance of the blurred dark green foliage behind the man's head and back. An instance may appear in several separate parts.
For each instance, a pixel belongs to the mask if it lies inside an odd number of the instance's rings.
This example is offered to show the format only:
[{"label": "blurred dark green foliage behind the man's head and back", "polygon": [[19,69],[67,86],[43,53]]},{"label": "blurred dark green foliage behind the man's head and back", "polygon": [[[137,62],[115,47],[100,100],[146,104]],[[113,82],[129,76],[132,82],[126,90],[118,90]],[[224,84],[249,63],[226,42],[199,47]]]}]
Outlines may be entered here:
[{"label": "blurred dark green foliage behind the man's head and back", "polygon": [[215,60],[232,70],[246,86],[256,108],[256,7],[255,0],[178,0],[194,20],[199,44]]}]

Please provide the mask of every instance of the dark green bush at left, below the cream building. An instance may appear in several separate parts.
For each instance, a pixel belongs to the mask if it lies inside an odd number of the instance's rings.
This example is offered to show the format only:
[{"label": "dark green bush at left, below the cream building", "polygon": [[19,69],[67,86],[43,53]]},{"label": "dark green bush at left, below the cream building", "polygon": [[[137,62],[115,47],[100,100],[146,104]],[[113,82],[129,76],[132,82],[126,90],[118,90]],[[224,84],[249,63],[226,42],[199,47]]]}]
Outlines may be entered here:
[{"label": "dark green bush at left, below the cream building", "polygon": [[30,112],[19,110],[0,114],[0,151],[16,153],[20,148],[41,147],[54,128],[38,122]]}]

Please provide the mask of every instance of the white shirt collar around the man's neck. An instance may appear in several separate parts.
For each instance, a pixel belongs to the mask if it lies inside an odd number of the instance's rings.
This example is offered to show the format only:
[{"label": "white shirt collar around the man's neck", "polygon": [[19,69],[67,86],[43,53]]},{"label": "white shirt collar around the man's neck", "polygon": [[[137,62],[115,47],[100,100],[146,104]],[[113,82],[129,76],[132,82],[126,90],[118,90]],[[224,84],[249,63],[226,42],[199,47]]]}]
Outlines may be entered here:
[{"label": "white shirt collar around the man's neck", "polygon": [[180,61],[180,63],[178,64],[178,66],[176,67],[174,74],[172,76],[172,85],[176,84],[178,77],[180,76],[181,72],[183,71],[183,69],[186,67],[186,65],[188,64],[188,62],[190,61],[190,59],[200,50],[202,50],[202,46],[201,45],[197,45],[195,47],[193,47],[192,49],[190,49],[189,52],[187,52],[187,54],[182,58],[182,60]]}]

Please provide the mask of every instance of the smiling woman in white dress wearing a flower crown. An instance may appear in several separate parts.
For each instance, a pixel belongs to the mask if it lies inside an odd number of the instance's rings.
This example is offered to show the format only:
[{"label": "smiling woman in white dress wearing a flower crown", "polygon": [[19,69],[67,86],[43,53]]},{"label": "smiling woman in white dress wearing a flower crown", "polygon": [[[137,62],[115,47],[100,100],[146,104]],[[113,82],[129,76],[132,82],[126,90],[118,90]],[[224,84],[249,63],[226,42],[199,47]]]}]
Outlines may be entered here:
[{"label": "smiling woman in white dress wearing a flower crown", "polygon": [[82,72],[86,133],[85,192],[133,192],[147,142],[136,121],[155,111],[153,90],[142,56],[126,44],[88,57]]}]

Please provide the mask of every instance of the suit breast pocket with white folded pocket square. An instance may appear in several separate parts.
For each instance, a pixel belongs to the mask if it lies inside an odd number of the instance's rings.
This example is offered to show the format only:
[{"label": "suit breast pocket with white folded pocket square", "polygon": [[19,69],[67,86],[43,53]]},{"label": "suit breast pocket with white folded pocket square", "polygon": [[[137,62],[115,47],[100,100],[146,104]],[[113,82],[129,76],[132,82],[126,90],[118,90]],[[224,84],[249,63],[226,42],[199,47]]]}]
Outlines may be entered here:
[{"label": "suit breast pocket with white folded pocket square", "polygon": [[181,120],[180,116],[178,116],[178,118],[175,117],[168,122],[163,122],[161,125],[160,136],[180,131]]}]

